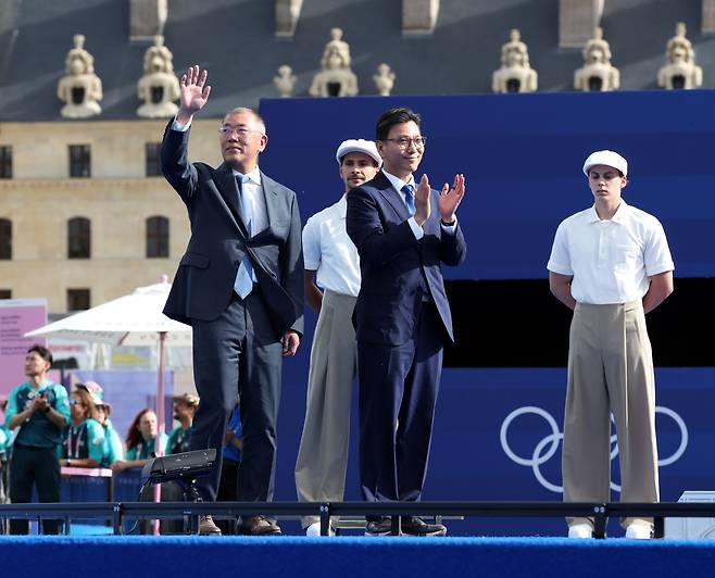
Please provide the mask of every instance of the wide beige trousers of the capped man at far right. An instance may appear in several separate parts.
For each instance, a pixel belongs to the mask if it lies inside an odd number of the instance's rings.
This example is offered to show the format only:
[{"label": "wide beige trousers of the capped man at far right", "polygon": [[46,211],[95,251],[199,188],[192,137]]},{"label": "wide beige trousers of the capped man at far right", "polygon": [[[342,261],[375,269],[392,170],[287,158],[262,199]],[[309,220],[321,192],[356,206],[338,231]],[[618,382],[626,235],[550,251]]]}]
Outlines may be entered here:
[{"label": "wide beige trousers of the capped man at far right", "polygon": [[[655,379],[640,301],[577,303],[570,326],[562,473],[565,502],[610,502],[611,414],[620,501],[657,502]],[[592,523],[568,518],[568,524]],[[650,518],[628,518],[651,524]]]}]

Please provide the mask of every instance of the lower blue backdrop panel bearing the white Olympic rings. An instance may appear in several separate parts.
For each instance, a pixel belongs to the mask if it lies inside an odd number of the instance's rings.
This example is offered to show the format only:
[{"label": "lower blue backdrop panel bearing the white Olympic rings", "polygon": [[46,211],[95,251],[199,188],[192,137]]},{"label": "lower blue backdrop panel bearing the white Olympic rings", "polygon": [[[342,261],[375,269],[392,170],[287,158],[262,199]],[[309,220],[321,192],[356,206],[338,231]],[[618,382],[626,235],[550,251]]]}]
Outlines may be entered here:
[{"label": "lower blue backdrop panel bearing the white Olympic rings", "polygon": [[[276,500],[294,500],[293,467],[305,407],[304,376],[285,367],[278,419]],[[656,369],[661,494],[715,490],[712,448],[715,368]],[[437,405],[425,500],[561,501],[564,368],[446,369]],[[356,388],[354,388],[356,390]],[[353,391],[347,500],[360,500]],[[613,438],[613,499],[619,481]],[[563,535],[559,519],[473,519],[457,533]],[[617,533],[615,526],[612,533]]]}]

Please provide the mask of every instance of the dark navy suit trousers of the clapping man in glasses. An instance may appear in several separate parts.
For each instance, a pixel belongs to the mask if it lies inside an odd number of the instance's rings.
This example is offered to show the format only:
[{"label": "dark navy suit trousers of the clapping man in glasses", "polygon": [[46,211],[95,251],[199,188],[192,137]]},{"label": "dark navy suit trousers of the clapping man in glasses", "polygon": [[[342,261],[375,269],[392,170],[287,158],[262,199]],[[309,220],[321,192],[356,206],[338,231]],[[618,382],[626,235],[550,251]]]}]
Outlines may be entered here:
[{"label": "dark navy suit trousers of the clapping man in glasses", "polygon": [[444,327],[423,303],[412,339],[358,343],[360,477],[371,502],[419,500],[427,472]]}]

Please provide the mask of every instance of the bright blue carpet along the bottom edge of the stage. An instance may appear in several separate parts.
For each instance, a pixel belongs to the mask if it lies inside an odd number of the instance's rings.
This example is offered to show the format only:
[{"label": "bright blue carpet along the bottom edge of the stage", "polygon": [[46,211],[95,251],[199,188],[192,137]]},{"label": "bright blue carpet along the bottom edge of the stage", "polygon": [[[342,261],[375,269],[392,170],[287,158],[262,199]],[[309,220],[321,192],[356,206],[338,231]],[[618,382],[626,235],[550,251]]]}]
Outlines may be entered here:
[{"label": "bright blue carpet along the bottom edge of the stage", "polygon": [[4,576],[700,577],[715,541],[562,538],[1,537]]}]

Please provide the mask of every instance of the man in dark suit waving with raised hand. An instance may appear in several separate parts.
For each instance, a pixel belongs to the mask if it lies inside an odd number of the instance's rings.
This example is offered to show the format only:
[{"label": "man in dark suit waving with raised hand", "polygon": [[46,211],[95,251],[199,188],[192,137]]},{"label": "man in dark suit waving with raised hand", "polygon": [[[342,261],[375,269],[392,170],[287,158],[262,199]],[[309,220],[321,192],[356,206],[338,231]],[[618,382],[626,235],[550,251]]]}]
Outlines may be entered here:
[{"label": "man in dark suit waving with raised hand", "polygon": [[[191,450],[218,450],[214,472],[199,479],[215,500],[226,422],[240,392],[243,460],[240,501],[273,497],[281,355],[294,355],[303,330],[303,255],[296,194],[258,166],[267,136],[261,117],[235,109],[224,117],[217,168],[190,163],[193,114],[211,87],[206,71],[187,71],[180,106],[162,142],[164,176],[186,203],[191,238],[164,313],[193,327],[193,378],[201,403]],[[221,533],[210,516],[202,533]],[[263,516],[243,517],[241,533],[280,533]]]}]

